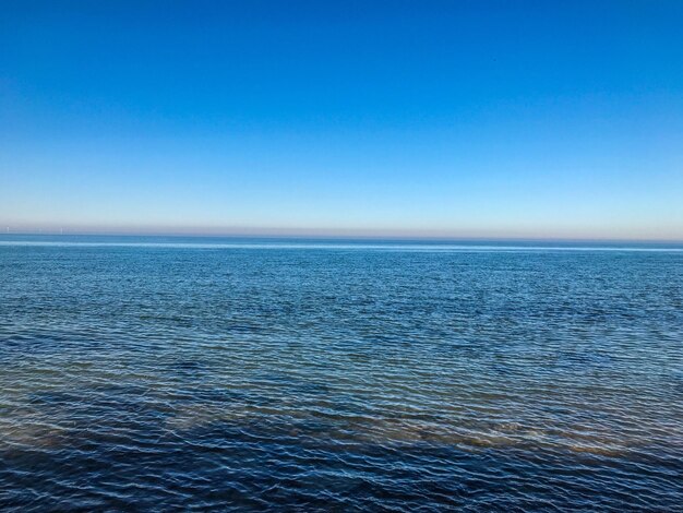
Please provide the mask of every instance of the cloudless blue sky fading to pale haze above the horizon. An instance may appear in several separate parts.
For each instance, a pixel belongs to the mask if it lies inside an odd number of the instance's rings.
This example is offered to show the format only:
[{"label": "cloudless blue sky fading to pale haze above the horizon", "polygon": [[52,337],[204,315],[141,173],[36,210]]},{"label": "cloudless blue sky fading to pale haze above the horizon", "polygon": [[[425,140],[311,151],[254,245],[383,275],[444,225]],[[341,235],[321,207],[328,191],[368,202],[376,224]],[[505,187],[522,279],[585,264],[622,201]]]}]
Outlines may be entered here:
[{"label": "cloudless blue sky fading to pale haze above the horizon", "polygon": [[683,2],[2,1],[0,226],[683,240]]}]

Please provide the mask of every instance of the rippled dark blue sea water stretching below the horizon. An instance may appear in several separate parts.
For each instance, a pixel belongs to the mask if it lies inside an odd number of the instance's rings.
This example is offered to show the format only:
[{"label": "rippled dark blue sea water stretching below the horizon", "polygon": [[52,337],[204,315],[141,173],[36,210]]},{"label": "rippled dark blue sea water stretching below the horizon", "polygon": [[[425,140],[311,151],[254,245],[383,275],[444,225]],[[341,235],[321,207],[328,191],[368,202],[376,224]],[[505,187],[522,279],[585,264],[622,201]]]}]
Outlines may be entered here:
[{"label": "rippled dark blue sea water stretching below the horizon", "polygon": [[683,511],[683,248],[0,239],[0,509]]}]

